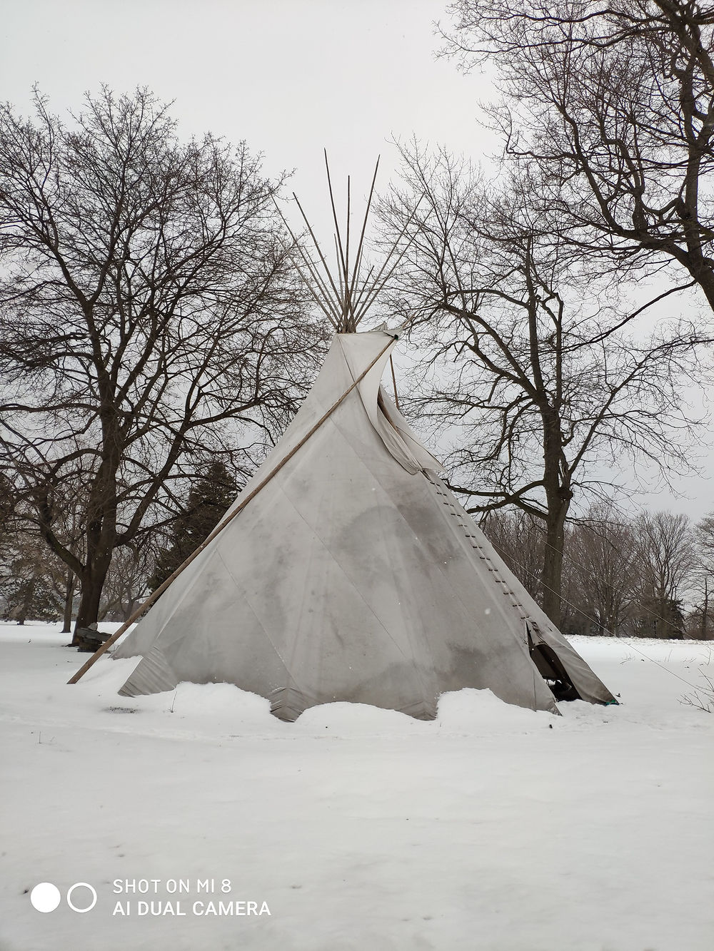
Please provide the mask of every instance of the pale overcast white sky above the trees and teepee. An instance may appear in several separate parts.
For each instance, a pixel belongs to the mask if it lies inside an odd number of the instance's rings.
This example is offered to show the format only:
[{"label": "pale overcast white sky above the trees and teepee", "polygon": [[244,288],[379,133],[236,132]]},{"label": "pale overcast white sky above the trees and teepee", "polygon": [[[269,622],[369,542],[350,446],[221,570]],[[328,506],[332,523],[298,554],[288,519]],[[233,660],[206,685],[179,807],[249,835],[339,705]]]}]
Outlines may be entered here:
[{"label": "pale overcast white sky above the trees and teepee", "polygon": [[[62,112],[86,90],[147,86],[181,133],[210,130],[264,152],[265,171],[291,180],[321,235],[327,226],[322,149],[333,180],[366,195],[416,135],[479,161],[497,149],[477,125],[483,76],[437,60],[433,22],[446,0],[14,0],[0,22],[0,96],[28,111],[37,83]],[[703,434],[704,435],[704,434]],[[704,440],[710,442],[708,435]],[[714,464],[714,463],[712,463]],[[694,517],[714,509],[711,481],[682,480],[689,497],[634,504]]]}]

